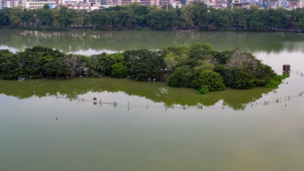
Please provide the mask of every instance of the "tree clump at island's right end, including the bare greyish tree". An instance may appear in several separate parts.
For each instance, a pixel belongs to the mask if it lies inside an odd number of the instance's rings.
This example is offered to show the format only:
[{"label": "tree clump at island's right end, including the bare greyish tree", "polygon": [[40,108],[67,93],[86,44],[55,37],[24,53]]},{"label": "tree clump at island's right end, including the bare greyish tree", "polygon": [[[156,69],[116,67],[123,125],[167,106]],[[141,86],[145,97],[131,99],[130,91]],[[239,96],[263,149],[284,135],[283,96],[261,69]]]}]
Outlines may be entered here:
[{"label": "tree clump at island's right end, including the bare greyish tree", "polygon": [[[224,56],[224,60],[220,60]],[[270,66],[262,64],[255,56],[240,48],[232,51],[215,53],[215,72],[224,78],[224,84],[233,89],[264,87],[276,74]]]}]

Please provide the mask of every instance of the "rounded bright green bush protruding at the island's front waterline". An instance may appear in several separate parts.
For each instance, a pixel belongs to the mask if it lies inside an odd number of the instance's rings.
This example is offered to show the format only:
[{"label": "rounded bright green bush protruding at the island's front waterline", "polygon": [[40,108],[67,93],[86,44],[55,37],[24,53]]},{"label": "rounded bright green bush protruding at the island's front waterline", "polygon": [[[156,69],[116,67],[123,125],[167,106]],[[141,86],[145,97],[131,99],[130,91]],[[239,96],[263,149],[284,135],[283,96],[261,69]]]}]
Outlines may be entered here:
[{"label": "rounded bright green bush protruding at the island's front waterline", "polygon": [[202,89],[204,86],[206,86],[209,91],[224,90],[222,76],[211,70],[205,70],[199,73],[197,80],[194,82],[194,86],[198,90]]}]

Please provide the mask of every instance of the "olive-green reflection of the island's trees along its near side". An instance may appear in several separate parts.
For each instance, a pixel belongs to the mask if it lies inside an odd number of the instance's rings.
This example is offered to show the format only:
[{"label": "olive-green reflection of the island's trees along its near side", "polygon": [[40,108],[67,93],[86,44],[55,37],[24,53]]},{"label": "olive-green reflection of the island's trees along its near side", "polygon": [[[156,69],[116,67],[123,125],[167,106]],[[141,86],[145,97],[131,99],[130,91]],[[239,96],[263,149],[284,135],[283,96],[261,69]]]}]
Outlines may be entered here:
[{"label": "olive-green reflection of the island's trees along its near side", "polygon": [[[21,90],[21,91],[20,91]],[[72,80],[30,80],[0,81],[0,93],[17,98],[30,98],[34,95],[46,97],[57,93],[66,98],[77,98],[89,91],[118,92],[148,98],[154,102],[164,102],[165,106],[214,106],[219,100],[235,110],[244,109],[247,104],[262,98],[269,89],[224,90],[199,95],[197,90],[168,87],[164,82],[144,82],[124,79],[72,79]],[[35,93],[34,93],[35,92]]]}]

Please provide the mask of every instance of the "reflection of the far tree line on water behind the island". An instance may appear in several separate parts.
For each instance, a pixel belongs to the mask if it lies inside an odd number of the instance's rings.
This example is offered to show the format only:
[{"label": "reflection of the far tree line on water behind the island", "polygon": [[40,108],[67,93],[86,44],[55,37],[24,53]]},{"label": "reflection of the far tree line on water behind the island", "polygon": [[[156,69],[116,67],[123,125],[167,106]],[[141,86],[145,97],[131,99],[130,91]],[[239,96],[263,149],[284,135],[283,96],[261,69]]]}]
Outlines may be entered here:
[{"label": "reflection of the far tree line on water behind the island", "polygon": [[37,31],[0,30],[0,45],[23,50],[24,47],[54,47],[64,53],[80,50],[159,49],[173,43],[211,43],[215,50],[243,47],[251,52],[304,52],[303,37],[296,33],[229,31]]}]

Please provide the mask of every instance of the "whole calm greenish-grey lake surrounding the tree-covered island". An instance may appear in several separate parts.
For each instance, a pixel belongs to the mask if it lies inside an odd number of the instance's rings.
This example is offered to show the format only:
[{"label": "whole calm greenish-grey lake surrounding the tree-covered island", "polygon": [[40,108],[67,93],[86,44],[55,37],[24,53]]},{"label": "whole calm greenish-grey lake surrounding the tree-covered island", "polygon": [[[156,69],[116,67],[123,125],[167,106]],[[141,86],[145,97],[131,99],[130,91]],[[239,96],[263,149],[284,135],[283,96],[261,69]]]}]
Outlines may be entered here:
[{"label": "whole calm greenish-grey lake surrounding the tree-covered island", "polygon": [[0,30],[0,48],[13,52],[41,45],[92,55],[197,41],[246,48],[276,73],[291,64],[291,73],[275,90],[207,95],[110,78],[0,81],[0,170],[302,169],[302,34]]}]

